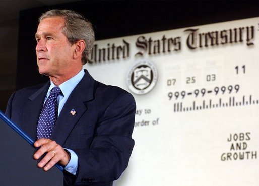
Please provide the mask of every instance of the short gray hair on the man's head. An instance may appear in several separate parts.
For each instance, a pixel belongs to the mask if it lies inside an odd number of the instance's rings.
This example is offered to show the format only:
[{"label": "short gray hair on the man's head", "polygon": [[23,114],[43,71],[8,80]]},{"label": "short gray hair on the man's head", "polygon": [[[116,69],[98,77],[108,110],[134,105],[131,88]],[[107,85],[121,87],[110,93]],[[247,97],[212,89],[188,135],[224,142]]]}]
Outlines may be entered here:
[{"label": "short gray hair on the man's head", "polygon": [[94,45],[94,30],[92,23],[83,15],[71,10],[50,10],[43,13],[39,22],[49,17],[63,17],[65,24],[63,34],[68,38],[71,44],[75,44],[79,40],[86,42],[86,48],[82,53],[82,64],[86,64],[88,56],[91,54]]}]

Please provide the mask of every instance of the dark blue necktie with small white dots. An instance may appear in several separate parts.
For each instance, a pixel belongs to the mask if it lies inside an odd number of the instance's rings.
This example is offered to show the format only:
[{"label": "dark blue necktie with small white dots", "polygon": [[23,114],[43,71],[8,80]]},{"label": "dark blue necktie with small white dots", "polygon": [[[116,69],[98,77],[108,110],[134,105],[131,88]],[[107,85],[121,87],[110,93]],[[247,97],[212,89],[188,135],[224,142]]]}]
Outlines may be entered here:
[{"label": "dark blue necktie with small white dots", "polygon": [[57,96],[61,93],[59,87],[54,87],[47,98],[38,121],[37,139],[50,138],[57,120],[58,103]]}]

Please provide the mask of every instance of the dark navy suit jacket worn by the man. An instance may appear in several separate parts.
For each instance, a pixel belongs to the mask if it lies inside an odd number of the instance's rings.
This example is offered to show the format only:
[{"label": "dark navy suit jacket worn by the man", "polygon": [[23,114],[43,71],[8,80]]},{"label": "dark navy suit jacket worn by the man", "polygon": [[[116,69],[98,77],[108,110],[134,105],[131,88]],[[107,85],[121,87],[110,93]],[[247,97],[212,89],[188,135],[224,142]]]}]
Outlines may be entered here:
[{"label": "dark navy suit jacket worn by the man", "polygon": [[[36,137],[38,118],[50,82],[16,91],[6,115]],[[73,116],[70,111],[75,109]],[[64,104],[51,139],[78,155],[76,176],[64,171],[64,185],[112,185],[127,167],[134,140],[136,104],[125,90],[95,81],[85,71]]]}]

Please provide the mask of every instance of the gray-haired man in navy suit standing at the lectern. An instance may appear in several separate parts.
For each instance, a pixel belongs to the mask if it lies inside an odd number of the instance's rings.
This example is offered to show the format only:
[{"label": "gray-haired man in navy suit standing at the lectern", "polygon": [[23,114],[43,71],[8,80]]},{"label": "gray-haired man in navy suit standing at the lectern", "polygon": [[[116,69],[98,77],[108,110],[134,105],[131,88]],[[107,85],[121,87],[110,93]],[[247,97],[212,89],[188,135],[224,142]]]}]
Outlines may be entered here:
[{"label": "gray-haired man in navy suit standing at the lectern", "polygon": [[[127,167],[134,146],[133,96],[95,81],[83,70],[94,42],[92,25],[83,16],[48,11],[39,18],[35,37],[39,73],[50,80],[13,93],[6,115],[36,138],[36,160],[46,154],[38,167],[47,171],[56,163],[64,166],[64,185],[112,185]],[[44,109],[54,88],[60,92],[53,98],[56,113],[49,116]],[[44,123],[50,117],[52,129]]]}]

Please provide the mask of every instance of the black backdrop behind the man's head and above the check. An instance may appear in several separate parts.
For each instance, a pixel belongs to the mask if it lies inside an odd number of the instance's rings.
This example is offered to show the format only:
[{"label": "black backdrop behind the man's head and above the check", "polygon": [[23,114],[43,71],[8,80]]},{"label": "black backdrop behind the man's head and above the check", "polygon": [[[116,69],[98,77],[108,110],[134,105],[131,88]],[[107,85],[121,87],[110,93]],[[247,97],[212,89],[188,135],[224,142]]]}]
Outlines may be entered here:
[{"label": "black backdrop behind the man's head and above the check", "polygon": [[38,17],[49,9],[84,14],[96,40],[259,16],[258,1],[77,1],[21,11],[16,89],[48,79],[38,73],[34,35]]}]

